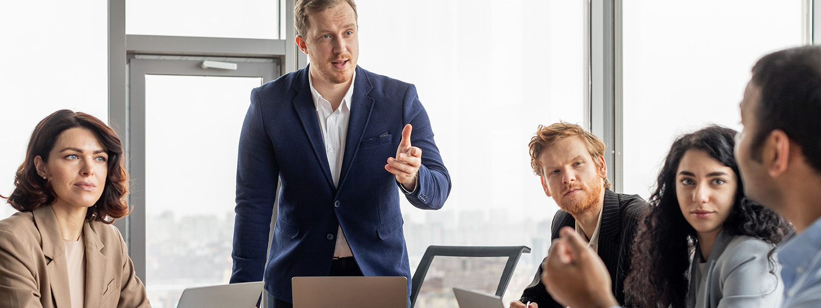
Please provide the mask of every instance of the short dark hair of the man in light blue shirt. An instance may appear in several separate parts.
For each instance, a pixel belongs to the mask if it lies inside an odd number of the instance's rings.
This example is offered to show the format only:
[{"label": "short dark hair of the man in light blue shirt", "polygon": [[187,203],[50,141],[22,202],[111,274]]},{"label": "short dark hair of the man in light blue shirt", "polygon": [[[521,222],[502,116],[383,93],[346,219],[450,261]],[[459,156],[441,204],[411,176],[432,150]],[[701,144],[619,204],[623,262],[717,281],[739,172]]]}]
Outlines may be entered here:
[{"label": "short dark hair of the man in light blue shirt", "polygon": [[753,135],[753,157],[760,160],[764,140],[782,130],[800,145],[807,161],[821,172],[821,47],[803,46],[770,53],[753,67],[759,87],[759,123]]}]

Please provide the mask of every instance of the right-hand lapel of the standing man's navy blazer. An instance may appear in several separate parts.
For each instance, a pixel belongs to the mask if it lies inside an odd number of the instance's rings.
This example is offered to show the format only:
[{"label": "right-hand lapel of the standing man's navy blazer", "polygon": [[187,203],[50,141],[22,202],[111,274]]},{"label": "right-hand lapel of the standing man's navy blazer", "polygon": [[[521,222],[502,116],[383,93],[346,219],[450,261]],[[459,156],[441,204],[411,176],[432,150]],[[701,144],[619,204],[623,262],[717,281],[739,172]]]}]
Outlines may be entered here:
[{"label": "right-hand lapel of the standing man's navy blazer", "polygon": [[345,154],[342,156],[342,169],[339,172],[339,188],[342,188],[342,184],[345,183],[348,170],[351,169],[351,163],[353,163],[359,149],[362,134],[365,133],[365,127],[368,126],[370,112],[374,108],[374,99],[368,96],[370,90],[373,89],[373,85],[370,84],[367,74],[367,71],[356,67],[354,94],[351,98],[351,118],[348,120]]}]

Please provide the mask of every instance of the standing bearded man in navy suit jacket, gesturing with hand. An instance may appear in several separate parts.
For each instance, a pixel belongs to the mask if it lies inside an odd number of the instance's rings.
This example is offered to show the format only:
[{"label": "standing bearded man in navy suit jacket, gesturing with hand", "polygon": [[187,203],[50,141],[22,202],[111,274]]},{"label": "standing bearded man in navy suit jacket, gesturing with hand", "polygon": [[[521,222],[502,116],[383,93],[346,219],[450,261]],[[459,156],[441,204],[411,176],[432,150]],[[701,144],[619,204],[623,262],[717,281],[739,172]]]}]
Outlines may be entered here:
[{"label": "standing bearded man in navy suit jacket, gesturing with hand", "polygon": [[296,276],[405,276],[410,294],[400,191],[440,209],[451,190],[428,114],[414,85],[356,65],[353,0],[297,0],[294,20],[310,65],[251,91],[231,282],[264,280],[277,308]]}]

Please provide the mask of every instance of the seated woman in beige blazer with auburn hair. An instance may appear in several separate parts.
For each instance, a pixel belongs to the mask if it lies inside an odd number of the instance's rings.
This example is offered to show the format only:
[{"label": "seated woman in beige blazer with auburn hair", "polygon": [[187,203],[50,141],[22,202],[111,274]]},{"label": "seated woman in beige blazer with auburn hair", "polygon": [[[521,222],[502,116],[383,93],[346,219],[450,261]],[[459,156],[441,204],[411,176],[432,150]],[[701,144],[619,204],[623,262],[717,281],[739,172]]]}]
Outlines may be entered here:
[{"label": "seated woman in beige blazer with auburn hair", "polygon": [[34,128],[0,220],[0,306],[149,307],[114,218],[128,214],[122,145],[85,113]]}]

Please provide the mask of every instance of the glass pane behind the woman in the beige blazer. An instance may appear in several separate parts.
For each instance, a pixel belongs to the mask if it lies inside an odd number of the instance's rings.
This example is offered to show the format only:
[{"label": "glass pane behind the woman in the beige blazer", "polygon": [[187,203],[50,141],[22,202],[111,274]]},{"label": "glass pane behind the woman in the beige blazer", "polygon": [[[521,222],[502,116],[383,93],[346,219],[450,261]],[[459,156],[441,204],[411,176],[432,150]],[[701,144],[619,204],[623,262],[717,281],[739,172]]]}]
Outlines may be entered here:
[{"label": "glass pane behind the woman in the beige blazer", "polygon": [[[3,2],[0,195],[14,189],[31,131],[44,117],[71,109],[108,122],[107,6],[104,1]],[[16,212],[5,200],[0,204],[0,218]]]}]

